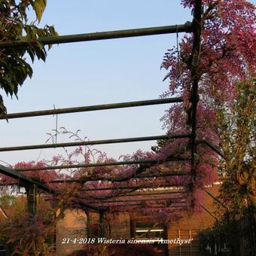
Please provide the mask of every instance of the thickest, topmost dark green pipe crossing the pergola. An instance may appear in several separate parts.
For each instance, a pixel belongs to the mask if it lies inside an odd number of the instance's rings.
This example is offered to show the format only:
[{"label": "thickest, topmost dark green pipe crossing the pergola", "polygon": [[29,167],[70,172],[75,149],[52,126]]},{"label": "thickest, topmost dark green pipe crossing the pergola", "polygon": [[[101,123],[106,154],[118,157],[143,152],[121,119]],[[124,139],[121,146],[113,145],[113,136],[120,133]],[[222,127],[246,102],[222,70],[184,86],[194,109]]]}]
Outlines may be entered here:
[{"label": "thickest, topmost dark green pipe crossing the pergola", "polygon": [[[41,44],[66,44],[74,43],[79,41],[95,41],[95,40],[105,40],[114,38],[130,38],[143,35],[161,35],[176,32],[192,32],[192,23],[187,21],[181,25],[174,26],[158,26],[151,28],[142,29],[125,29],[125,30],[115,30],[107,32],[93,32],[87,34],[78,35],[59,35],[59,36],[49,36],[38,38]],[[27,44],[32,44],[35,41],[25,41],[21,38],[20,41],[4,41],[0,43],[0,48],[6,47],[19,47],[26,46]]]}]

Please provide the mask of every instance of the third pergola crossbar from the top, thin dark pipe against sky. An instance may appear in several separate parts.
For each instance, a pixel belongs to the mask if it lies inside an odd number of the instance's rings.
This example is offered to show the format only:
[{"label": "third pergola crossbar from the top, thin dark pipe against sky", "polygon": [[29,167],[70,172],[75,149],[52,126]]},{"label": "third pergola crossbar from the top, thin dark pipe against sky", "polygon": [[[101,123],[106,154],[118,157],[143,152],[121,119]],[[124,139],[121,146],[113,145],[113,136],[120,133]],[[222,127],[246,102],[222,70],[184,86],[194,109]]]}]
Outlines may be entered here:
[{"label": "third pergola crossbar from the top, thin dark pipe against sky", "polygon": [[41,144],[41,145],[25,145],[25,146],[14,146],[14,147],[3,147],[0,148],[0,152],[5,151],[25,151],[32,149],[42,149],[42,148],[68,148],[75,146],[85,146],[85,145],[104,145],[104,144],[114,144],[114,143],[125,143],[125,142],[146,142],[159,139],[180,139],[188,138],[190,133],[184,134],[174,134],[174,135],[163,135],[163,136],[147,136],[147,137],[133,137],[133,138],[122,138],[122,139],[102,139],[87,142],[66,142],[66,143],[56,143],[56,144]]}]

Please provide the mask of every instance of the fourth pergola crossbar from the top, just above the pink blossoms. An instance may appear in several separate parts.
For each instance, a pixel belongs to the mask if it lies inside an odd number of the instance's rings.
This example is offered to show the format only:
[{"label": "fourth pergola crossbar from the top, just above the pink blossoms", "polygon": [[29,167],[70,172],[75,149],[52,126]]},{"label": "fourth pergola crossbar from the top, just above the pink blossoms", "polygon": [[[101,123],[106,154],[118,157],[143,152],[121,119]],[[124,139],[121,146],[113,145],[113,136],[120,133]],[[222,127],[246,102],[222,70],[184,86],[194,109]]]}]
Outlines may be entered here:
[{"label": "fourth pergola crossbar from the top, just above the pink blossoms", "polygon": [[148,159],[148,160],[133,160],[133,161],[120,161],[113,163],[87,163],[87,164],[72,164],[66,166],[43,166],[43,167],[31,167],[31,168],[16,168],[14,169],[17,172],[27,172],[27,171],[42,171],[42,170],[50,170],[50,169],[74,169],[74,168],[90,168],[90,167],[99,167],[99,166],[122,166],[128,164],[140,164],[140,163],[148,163],[148,164],[161,164],[168,161],[186,161],[190,160],[190,157],[169,157],[165,161],[156,160],[156,159]]}]

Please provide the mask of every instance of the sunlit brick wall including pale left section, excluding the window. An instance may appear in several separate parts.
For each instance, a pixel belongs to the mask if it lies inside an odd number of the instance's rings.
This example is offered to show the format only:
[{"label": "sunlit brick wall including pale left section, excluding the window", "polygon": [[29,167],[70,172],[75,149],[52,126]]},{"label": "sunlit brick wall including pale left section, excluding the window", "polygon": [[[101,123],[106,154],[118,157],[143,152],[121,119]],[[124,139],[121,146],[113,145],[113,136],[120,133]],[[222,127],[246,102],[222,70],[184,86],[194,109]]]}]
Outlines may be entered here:
[{"label": "sunlit brick wall including pale left section, excluding the window", "polygon": [[[218,186],[207,187],[210,193],[217,195]],[[206,194],[205,201],[202,203],[210,212],[214,213],[217,209],[212,197]],[[87,220],[84,212],[66,211],[66,216],[63,220],[59,221],[57,225],[57,253],[59,256],[64,256],[75,249],[78,249],[78,245],[67,245],[62,244],[62,239],[65,236],[74,237],[74,230],[84,229],[86,223],[83,221],[78,221],[79,217],[83,217],[85,222]],[[99,214],[90,212],[88,220],[90,225],[99,226]],[[109,225],[111,227],[110,237],[111,238],[130,238],[132,236],[131,222],[132,221],[149,221],[152,222],[154,219],[149,219],[148,217],[142,215],[129,215],[128,213],[121,213],[120,215],[114,215]],[[209,228],[214,224],[215,218],[213,218],[209,213],[207,213],[203,208],[200,213],[194,214],[192,216],[187,216],[180,219],[179,221],[171,221],[166,226],[166,239],[192,239],[190,244],[177,245],[168,244],[169,256],[196,256],[199,252],[199,241],[198,233],[200,230]],[[90,226],[88,227],[90,229]],[[89,230],[88,230],[89,231]],[[90,232],[90,231],[89,231]],[[86,234],[84,234],[86,236]],[[121,245],[120,245],[121,246]]]}]

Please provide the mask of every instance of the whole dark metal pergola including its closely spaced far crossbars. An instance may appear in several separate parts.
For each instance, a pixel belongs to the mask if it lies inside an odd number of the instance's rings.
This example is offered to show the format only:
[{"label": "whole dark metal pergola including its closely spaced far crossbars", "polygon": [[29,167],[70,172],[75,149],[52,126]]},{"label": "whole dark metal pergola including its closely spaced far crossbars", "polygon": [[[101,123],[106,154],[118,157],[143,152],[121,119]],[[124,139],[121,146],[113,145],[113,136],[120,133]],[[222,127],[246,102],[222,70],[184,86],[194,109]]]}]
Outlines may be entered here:
[{"label": "whole dark metal pergola including its closely spaced far crossbars", "polygon": [[[192,22],[187,22],[181,25],[175,26],[162,26],[162,27],[152,27],[152,28],[143,28],[143,29],[128,29],[128,30],[119,30],[119,31],[109,31],[109,32],[96,32],[89,34],[81,34],[81,35],[62,35],[62,36],[54,36],[47,38],[38,38],[38,41],[41,44],[66,44],[71,42],[78,41],[96,41],[96,40],[106,40],[112,38],[128,38],[128,37],[138,37],[145,35],[161,35],[161,34],[169,34],[169,33],[178,33],[178,32],[192,32],[194,34],[193,41],[193,49],[192,54],[190,56],[193,59],[193,65],[191,65],[190,73],[193,81],[193,86],[191,88],[191,113],[190,118],[191,128],[190,133],[183,134],[169,134],[163,136],[147,136],[147,137],[134,137],[134,138],[121,138],[121,139],[105,139],[105,140],[95,140],[88,142],[66,142],[66,143],[56,143],[52,145],[19,145],[14,147],[5,147],[0,148],[0,151],[24,151],[24,150],[33,150],[33,149],[42,149],[42,148],[63,148],[63,147],[74,147],[80,145],[103,145],[103,144],[116,144],[116,143],[126,143],[126,142],[143,142],[143,141],[155,141],[155,140],[175,140],[181,138],[189,139],[190,145],[190,157],[181,156],[172,156],[166,157],[165,160],[157,160],[157,159],[148,159],[148,160],[126,160],[119,162],[109,162],[109,163],[87,163],[87,164],[72,164],[72,165],[61,165],[61,166],[43,166],[43,167],[31,167],[25,169],[10,169],[6,166],[0,165],[0,172],[4,175],[8,175],[11,178],[16,179],[20,186],[26,187],[27,194],[31,194],[28,191],[36,189],[43,190],[53,196],[58,195],[60,192],[56,188],[50,186],[50,184],[63,184],[63,183],[78,183],[84,184],[83,188],[79,195],[75,197],[73,200],[74,203],[79,204],[85,209],[90,209],[102,214],[102,212],[108,211],[108,206],[113,206],[114,208],[121,207],[121,211],[125,210],[126,207],[130,206],[139,206],[142,203],[146,203],[150,200],[155,200],[157,203],[151,206],[152,209],[157,209],[163,207],[164,203],[167,203],[166,208],[172,209],[172,203],[175,202],[175,206],[173,206],[173,210],[175,209],[184,209],[184,204],[186,204],[187,194],[191,192],[191,184],[193,187],[194,180],[196,178],[196,159],[195,155],[197,153],[197,145],[204,144],[209,148],[212,148],[213,151],[217,152],[221,156],[221,151],[216,148],[214,145],[207,141],[197,141],[197,102],[199,101],[198,95],[198,84],[199,84],[199,76],[197,74],[198,69],[198,59],[200,58],[200,37],[202,30],[202,1],[195,1],[194,8],[194,20]],[[32,44],[33,41],[8,41],[8,42],[0,42],[0,49],[6,47],[20,47],[26,44]],[[7,116],[0,115],[0,119],[5,120],[14,119],[14,118],[24,118],[24,117],[36,117],[36,116],[44,116],[44,115],[52,115],[52,114],[71,114],[76,112],[85,112],[85,111],[102,111],[107,109],[117,109],[117,108],[132,108],[146,105],[160,105],[160,104],[172,104],[183,102],[181,97],[174,97],[168,99],[151,99],[151,100],[143,100],[136,102],[120,102],[120,103],[112,103],[112,104],[103,104],[103,105],[89,105],[89,106],[81,106],[75,108],[58,108],[58,109],[48,109],[41,111],[29,111],[29,112],[20,112],[20,113],[11,113]],[[186,161],[190,163],[190,172],[184,171],[169,171],[164,173],[150,173],[145,174],[146,170],[148,170],[152,166],[158,166],[160,164],[166,162],[176,162],[176,161]],[[51,170],[51,169],[75,169],[75,168],[95,168],[99,166],[122,166],[122,165],[136,165],[138,166],[136,172],[129,177],[126,178],[118,178],[118,177],[106,177],[105,175],[96,176],[88,175],[83,178],[71,178],[71,179],[56,179],[50,181],[50,184],[44,184],[41,181],[38,181],[36,178],[31,178],[25,175],[28,171],[43,171],[43,170]],[[172,176],[186,176],[190,175],[190,184],[177,184],[170,182],[161,182],[157,184],[157,186],[152,185],[152,179],[156,178],[168,178]],[[140,179],[145,179],[148,181],[148,184],[121,184],[122,182],[128,181],[137,181]],[[88,185],[87,182],[93,181],[112,181],[112,186],[105,187],[93,187],[93,184]],[[6,185],[6,184],[2,184]],[[151,188],[154,187],[154,190]],[[112,193],[109,197],[90,197],[90,193],[93,191],[104,191],[107,190]],[[117,193],[117,191],[119,191]],[[175,194],[177,194],[175,196]],[[181,196],[183,195],[183,196]],[[144,199],[140,197],[145,197]],[[164,197],[163,197],[164,196]],[[49,199],[49,200],[54,200]],[[169,203],[168,205],[168,202]],[[120,204],[122,203],[122,204]],[[176,205],[178,203],[178,205]],[[100,205],[100,206],[99,206]],[[147,206],[150,207],[150,206]],[[185,208],[187,209],[187,208]]]}]

